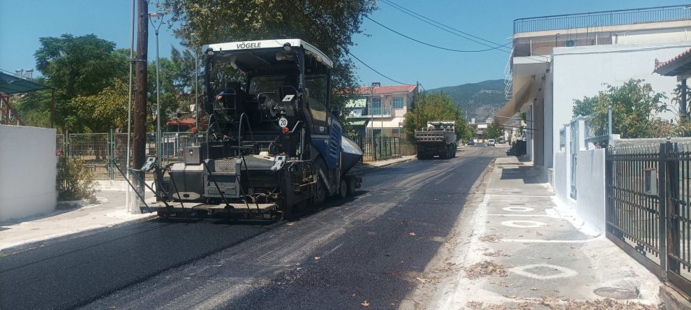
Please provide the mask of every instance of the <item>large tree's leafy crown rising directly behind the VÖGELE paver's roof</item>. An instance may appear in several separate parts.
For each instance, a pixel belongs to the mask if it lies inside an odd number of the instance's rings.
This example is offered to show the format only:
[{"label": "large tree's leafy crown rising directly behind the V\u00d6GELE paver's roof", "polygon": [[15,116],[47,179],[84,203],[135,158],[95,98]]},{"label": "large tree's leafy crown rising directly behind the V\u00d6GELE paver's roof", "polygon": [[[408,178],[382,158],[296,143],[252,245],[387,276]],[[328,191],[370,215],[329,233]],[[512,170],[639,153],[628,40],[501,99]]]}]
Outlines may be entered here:
[{"label": "large tree's leafy crown rising directly behind the V\u00d6GELE paver's roof", "polygon": [[[375,10],[375,3],[374,0],[163,0],[161,7],[171,13],[173,23],[181,24],[175,34],[190,47],[272,38],[306,40],[334,61],[334,91],[352,90],[359,84],[348,49],[353,45],[353,34],[362,32],[362,18]],[[332,106],[345,112],[346,100],[347,96],[332,96]]]}]

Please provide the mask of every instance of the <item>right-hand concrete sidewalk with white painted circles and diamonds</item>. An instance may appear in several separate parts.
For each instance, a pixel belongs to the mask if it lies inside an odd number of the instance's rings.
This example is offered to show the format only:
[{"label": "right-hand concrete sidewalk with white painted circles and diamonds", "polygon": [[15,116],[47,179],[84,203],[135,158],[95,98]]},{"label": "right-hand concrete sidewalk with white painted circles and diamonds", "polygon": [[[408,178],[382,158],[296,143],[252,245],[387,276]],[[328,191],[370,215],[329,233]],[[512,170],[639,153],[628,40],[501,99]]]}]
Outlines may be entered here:
[{"label": "right-hand concrete sidewalk with white painted circles and diamonds", "polygon": [[446,249],[428,267],[431,283],[422,288],[430,301],[426,308],[653,309],[659,304],[660,281],[606,237],[586,235],[573,219],[560,216],[553,192],[538,175],[515,157],[498,158],[489,168]]}]

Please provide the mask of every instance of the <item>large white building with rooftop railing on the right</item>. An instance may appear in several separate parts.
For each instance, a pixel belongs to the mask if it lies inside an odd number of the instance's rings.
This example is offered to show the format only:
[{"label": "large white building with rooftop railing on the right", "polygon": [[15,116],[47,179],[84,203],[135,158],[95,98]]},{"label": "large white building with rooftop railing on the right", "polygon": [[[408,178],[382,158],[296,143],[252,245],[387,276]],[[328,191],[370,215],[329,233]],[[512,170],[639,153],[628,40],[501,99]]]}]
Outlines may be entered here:
[{"label": "large white building with rooftop railing on the right", "polygon": [[[642,79],[671,94],[674,77],[653,74],[655,59],[691,47],[691,10],[666,6],[514,20],[507,87],[510,101],[495,121],[526,112],[528,154],[553,178],[559,130],[573,119],[574,99],[595,96],[604,83]],[[553,182],[551,182],[553,184]]]}]

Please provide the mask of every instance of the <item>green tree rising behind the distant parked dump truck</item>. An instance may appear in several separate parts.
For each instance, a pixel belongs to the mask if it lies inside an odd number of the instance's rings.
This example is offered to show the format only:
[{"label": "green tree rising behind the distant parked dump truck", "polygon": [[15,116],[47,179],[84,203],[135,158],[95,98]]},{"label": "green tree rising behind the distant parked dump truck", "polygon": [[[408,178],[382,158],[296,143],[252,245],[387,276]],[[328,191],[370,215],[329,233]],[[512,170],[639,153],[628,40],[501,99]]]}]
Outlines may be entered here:
[{"label": "green tree rising behind the distant parked dump truck", "polygon": [[463,117],[463,110],[456,106],[454,100],[443,93],[430,93],[423,91],[419,94],[418,104],[413,110],[403,116],[403,130],[408,135],[415,134],[415,119],[419,127],[426,126],[428,121],[449,121],[456,122],[456,137],[467,140],[473,134],[468,125],[468,121]]}]

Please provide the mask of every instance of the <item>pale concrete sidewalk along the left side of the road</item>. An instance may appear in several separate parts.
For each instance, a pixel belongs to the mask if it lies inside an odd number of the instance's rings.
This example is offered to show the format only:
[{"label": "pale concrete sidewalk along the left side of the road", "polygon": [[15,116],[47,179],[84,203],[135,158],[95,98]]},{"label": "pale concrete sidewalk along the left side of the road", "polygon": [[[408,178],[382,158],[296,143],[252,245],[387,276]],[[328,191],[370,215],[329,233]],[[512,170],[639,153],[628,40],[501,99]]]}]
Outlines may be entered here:
[{"label": "pale concrete sidewalk along the left side of the road", "polygon": [[[385,161],[358,163],[353,172],[396,165],[415,159],[403,156]],[[118,185],[118,184],[116,184]],[[121,185],[121,184],[120,184]],[[126,185],[124,185],[126,186]],[[117,186],[111,186],[116,188]],[[120,186],[124,188],[123,186]],[[147,191],[147,202],[154,202],[154,194]],[[125,191],[99,191],[96,203],[66,210],[56,210],[28,219],[0,223],[0,255],[24,251],[42,244],[90,235],[104,229],[127,225],[135,221],[153,219],[156,214],[128,214]]]}]

